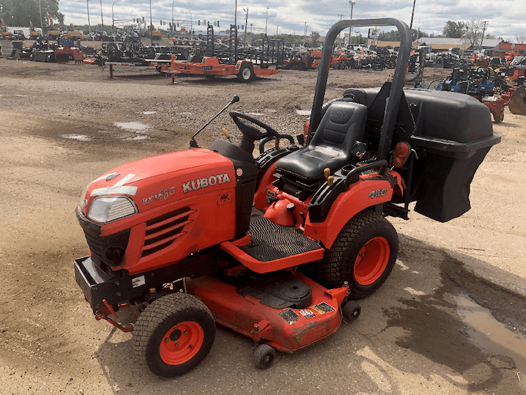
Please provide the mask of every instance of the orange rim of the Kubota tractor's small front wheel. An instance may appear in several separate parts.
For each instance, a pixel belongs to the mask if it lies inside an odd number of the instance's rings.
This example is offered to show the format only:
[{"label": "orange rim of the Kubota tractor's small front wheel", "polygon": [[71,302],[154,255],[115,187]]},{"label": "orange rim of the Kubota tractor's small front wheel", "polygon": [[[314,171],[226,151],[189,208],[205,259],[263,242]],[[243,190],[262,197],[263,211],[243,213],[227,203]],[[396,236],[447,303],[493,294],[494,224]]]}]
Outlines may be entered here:
[{"label": "orange rim of the Kubota tractor's small front wheel", "polygon": [[168,365],[181,365],[190,361],[201,349],[205,333],[194,321],[184,321],[170,328],[161,340],[159,354]]}]

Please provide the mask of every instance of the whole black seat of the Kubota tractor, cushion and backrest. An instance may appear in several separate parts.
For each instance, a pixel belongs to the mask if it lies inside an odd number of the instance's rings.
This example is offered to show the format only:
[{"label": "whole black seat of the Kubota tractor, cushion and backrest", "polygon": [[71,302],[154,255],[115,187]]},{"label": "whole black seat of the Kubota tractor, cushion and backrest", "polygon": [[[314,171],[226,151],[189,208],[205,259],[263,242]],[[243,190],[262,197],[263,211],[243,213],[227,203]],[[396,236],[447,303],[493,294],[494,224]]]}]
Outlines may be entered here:
[{"label": "whole black seat of the Kubota tractor, cushion and backrest", "polygon": [[311,143],[276,162],[276,171],[305,184],[323,180],[325,168],[330,168],[331,173],[334,173],[351,163],[351,151],[355,142],[363,141],[366,121],[365,105],[356,102],[332,103]]}]

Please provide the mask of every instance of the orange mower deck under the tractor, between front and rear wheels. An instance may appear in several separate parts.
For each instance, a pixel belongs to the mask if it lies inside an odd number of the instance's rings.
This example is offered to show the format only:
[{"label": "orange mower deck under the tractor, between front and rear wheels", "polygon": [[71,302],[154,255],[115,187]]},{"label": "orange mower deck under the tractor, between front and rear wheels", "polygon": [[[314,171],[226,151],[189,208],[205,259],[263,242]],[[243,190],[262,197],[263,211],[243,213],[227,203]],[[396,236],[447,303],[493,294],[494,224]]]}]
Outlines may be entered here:
[{"label": "orange mower deck under the tractor, between front and rear wheels", "polygon": [[[236,288],[210,276],[188,280],[186,287],[188,293],[208,306],[215,321],[222,326],[278,351],[295,352],[335,333],[342,323],[339,307],[349,287],[328,290],[304,274],[293,275],[311,290],[311,302],[304,308],[274,309],[262,302],[261,295],[258,298],[243,296],[243,287]],[[294,293],[295,287],[288,288]]]}]

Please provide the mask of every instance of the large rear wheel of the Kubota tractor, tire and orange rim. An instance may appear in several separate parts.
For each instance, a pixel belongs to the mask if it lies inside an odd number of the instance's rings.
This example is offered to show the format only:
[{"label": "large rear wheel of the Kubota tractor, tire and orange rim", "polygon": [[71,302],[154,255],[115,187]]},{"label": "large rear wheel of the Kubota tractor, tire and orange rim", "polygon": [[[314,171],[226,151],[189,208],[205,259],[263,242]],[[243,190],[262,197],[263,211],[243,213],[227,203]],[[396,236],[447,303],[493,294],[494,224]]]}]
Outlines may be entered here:
[{"label": "large rear wheel of the Kubota tractor, tire and orange rim", "polygon": [[365,210],[342,228],[316,272],[328,288],[341,287],[347,281],[349,297],[360,299],[382,286],[397,255],[398,235],[391,222]]}]

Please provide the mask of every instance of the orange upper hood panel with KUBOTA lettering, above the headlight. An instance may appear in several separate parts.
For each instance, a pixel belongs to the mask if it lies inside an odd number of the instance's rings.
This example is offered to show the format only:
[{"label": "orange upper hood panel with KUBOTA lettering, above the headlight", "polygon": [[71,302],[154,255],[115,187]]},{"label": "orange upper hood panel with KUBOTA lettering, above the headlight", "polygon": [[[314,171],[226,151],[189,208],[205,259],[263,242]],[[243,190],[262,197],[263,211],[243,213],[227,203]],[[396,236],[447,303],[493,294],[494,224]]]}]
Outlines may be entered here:
[{"label": "orange upper hood panel with KUBOTA lettering, above the headlight", "polygon": [[91,182],[81,197],[86,217],[101,196],[126,196],[141,213],[165,203],[235,185],[232,162],[208,149],[187,149],[125,163]]}]

